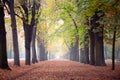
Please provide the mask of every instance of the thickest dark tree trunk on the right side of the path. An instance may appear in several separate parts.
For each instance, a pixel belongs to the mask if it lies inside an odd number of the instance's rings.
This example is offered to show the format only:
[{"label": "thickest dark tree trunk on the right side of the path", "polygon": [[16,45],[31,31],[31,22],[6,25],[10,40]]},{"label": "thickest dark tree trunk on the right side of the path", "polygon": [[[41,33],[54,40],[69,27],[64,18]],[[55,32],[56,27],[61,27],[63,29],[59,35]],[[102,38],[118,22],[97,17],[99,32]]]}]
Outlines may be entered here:
[{"label": "thickest dark tree trunk on the right side of the path", "polygon": [[106,65],[104,59],[103,29],[95,33],[95,65]]}]

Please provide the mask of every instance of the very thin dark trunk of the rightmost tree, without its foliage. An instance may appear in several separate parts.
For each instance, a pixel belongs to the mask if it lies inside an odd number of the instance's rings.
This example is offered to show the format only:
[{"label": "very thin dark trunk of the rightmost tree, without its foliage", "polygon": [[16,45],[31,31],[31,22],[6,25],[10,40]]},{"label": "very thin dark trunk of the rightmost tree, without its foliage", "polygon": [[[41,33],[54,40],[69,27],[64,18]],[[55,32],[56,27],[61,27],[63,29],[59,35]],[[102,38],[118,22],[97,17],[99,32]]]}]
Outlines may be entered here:
[{"label": "very thin dark trunk of the rightmost tree, without its foliage", "polygon": [[113,43],[112,43],[112,70],[115,70],[115,41],[116,41],[116,27],[113,33]]}]

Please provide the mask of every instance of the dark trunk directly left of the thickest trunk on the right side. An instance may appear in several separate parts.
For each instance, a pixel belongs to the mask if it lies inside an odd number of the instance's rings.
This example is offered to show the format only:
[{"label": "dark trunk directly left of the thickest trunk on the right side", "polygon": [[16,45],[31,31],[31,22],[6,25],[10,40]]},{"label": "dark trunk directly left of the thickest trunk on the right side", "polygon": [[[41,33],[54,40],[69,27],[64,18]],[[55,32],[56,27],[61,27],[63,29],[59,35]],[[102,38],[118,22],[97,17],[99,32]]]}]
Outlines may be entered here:
[{"label": "dark trunk directly left of the thickest trunk on the right side", "polygon": [[95,56],[94,56],[94,47],[95,47],[95,38],[94,33],[89,30],[88,31],[89,38],[90,38],[90,64],[95,65]]}]

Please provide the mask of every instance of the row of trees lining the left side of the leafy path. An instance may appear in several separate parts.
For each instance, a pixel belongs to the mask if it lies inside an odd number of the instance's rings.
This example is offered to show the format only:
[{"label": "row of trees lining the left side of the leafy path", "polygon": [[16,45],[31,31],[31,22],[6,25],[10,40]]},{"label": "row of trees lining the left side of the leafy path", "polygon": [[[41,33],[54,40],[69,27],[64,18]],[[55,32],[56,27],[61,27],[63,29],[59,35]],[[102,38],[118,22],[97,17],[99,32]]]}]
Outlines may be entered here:
[{"label": "row of trees lining the left side of the leafy path", "polygon": [[[7,61],[7,47],[6,47],[6,30],[5,30],[5,13],[7,11],[11,19],[12,38],[13,38],[13,52],[14,65],[20,66],[19,45],[16,17],[21,19],[24,35],[25,35],[25,64],[38,62],[36,56],[35,39],[37,32],[37,24],[39,16],[41,15],[41,0],[0,0],[0,68],[10,69]],[[39,33],[40,34],[40,33]],[[44,40],[37,36],[39,48],[39,60],[46,60],[46,51],[44,47]]]}]

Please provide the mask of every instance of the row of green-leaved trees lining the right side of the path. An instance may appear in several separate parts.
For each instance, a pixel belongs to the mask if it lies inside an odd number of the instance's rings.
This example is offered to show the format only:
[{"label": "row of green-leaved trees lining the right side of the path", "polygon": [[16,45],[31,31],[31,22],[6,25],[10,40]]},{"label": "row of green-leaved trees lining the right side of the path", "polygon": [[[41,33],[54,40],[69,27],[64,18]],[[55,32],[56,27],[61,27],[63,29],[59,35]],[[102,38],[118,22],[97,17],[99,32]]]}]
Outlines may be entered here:
[{"label": "row of green-leaved trees lining the right side of the path", "polygon": [[55,3],[59,17],[65,22],[63,29],[68,29],[64,37],[70,59],[105,66],[104,46],[110,44],[114,70],[115,42],[120,38],[120,1],[55,0]]}]

